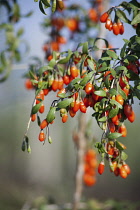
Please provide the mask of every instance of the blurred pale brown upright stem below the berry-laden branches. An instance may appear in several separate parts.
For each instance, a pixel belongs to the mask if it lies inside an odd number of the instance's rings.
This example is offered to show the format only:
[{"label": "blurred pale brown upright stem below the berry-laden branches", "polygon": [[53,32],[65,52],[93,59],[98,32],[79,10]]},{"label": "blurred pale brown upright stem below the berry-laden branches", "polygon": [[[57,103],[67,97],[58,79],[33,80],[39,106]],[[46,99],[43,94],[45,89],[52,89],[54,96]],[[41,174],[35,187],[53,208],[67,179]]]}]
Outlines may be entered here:
[{"label": "blurred pale brown upright stem below the berry-laden branches", "polygon": [[77,168],[75,175],[73,210],[78,209],[83,190],[84,153],[86,149],[86,114],[80,113],[78,123],[78,132],[76,132],[73,136],[73,140],[77,147]]}]

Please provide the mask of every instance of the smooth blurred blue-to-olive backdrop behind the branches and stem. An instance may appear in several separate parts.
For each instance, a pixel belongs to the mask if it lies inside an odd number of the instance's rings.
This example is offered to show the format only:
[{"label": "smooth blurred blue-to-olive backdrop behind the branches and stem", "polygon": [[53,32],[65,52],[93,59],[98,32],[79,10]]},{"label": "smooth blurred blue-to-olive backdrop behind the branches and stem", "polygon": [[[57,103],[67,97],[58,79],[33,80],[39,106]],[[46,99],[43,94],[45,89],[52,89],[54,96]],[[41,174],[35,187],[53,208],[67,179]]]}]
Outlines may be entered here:
[{"label": "smooth blurred blue-to-olive backdrop behind the branches and stem", "polygon": [[[111,5],[121,1],[112,1]],[[78,3],[78,1],[77,1]],[[30,108],[34,98],[33,91],[27,91],[24,86],[23,75],[27,72],[28,59],[31,56],[44,58],[42,45],[46,35],[40,28],[44,15],[39,11],[38,4],[34,1],[19,1],[22,13],[33,10],[33,15],[28,19],[21,19],[16,27],[24,27],[23,38],[28,41],[30,51],[23,57],[22,66],[15,65],[10,77],[0,84],[0,210],[19,210],[26,203],[43,197],[50,202],[58,204],[71,202],[74,193],[74,176],[76,170],[76,148],[72,141],[71,133],[77,126],[76,118],[68,120],[60,126],[60,117],[57,115],[55,124],[50,132],[52,144],[45,145],[38,141],[39,128],[36,123],[31,123],[29,130],[31,154],[21,151],[21,144],[30,116]],[[123,36],[112,36],[107,33],[107,39],[114,47],[121,47],[123,37],[131,37],[133,29],[126,25]],[[4,37],[1,35],[1,43]],[[49,96],[45,103],[49,105],[55,94]],[[126,200],[138,202],[140,198],[140,167],[139,167],[139,102],[134,104],[136,120],[133,124],[126,122],[128,135],[120,139],[127,146],[129,156],[127,163],[132,173],[126,180],[113,176],[109,167],[105,173],[97,174],[97,183],[91,187],[84,187],[82,199]],[[47,110],[46,110],[47,112]],[[91,115],[87,113],[87,119]],[[44,114],[45,117],[45,114]],[[43,119],[43,117],[42,117]],[[102,131],[93,120],[93,135],[100,140]],[[99,157],[100,160],[100,157]]]}]

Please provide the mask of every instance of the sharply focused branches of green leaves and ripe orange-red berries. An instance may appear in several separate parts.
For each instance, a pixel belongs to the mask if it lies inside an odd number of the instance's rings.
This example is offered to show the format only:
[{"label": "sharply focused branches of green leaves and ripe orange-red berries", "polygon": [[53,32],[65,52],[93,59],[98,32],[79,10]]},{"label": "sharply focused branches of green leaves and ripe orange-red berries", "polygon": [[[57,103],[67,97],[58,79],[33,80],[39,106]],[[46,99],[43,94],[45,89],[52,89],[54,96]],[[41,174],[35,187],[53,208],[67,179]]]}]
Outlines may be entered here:
[{"label": "sharply focused branches of green leaves and ripe orange-red berries", "polygon": [[[95,144],[102,157],[98,172],[100,174],[104,172],[104,159],[107,159],[111,171],[116,176],[126,178],[130,174],[129,166],[125,163],[128,156],[124,152],[125,145],[119,142],[118,138],[126,137],[127,129],[124,121],[128,119],[131,123],[134,122],[135,113],[132,104],[134,97],[140,99],[139,3],[123,2],[109,9],[105,17],[104,14],[101,16],[103,17],[100,18],[101,22],[107,22],[113,11],[114,23],[117,25],[121,20],[131,24],[136,28],[136,35],[130,40],[124,39],[121,49],[108,48],[109,44],[104,40],[107,48],[102,51],[99,59],[94,58],[94,53],[99,50],[96,41],[100,38],[95,39],[92,46],[84,42],[79,43],[73,51],[53,51],[47,65],[39,68],[37,74],[30,71],[31,82],[35,89],[31,118],[33,114],[37,114],[40,134],[42,135],[43,129],[46,128],[49,139],[49,126],[54,122],[56,112],[60,112],[62,122],[65,123],[68,114],[74,117],[78,110],[85,113],[87,108],[91,107],[92,117],[95,117],[97,124],[103,130],[101,142]],[[127,18],[126,11],[131,14],[131,20]],[[122,28],[120,29],[118,25],[117,27],[120,32]],[[112,26],[110,30],[113,30],[115,35],[119,34],[115,32],[116,27],[113,29]],[[118,50],[120,53],[117,53]],[[52,102],[46,118],[41,122],[38,113],[41,112],[43,95],[45,93],[48,95],[51,91],[58,91],[56,95],[58,99]],[[46,135],[40,141],[45,141],[45,138]]]}]

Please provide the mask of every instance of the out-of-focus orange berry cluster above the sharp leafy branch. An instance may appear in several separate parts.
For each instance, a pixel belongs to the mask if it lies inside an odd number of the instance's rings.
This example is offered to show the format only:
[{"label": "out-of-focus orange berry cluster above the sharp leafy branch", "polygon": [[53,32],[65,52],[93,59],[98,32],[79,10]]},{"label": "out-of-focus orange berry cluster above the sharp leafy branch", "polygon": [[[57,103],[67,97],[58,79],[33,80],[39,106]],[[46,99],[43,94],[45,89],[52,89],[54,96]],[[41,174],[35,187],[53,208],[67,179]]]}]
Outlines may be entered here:
[{"label": "out-of-focus orange berry cluster above the sharp leafy branch", "polygon": [[[57,1],[59,4],[62,1]],[[100,14],[102,13],[103,6],[102,0],[95,0],[90,3],[90,8],[87,10],[77,4],[69,4],[64,6],[64,11],[56,9],[52,14],[51,19],[46,18],[42,23],[43,29],[47,31],[48,39],[43,45],[43,51],[45,52],[45,59],[50,61],[53,57],[52,51],[59,52],[62,46],[73,40],[77,42],[77,37],[87,37],[90,39],[89,28],[92,28],[99,22]],[[57,7],[59,8],[59,7]],[[80,14],[80,18],[77,14]],[[86,14],[86,15],[85,15]],[[87,24],[88,23],[88,24]],[[83,26],[85,30],[83,31]],[[87,30],[88,29],[88,30]],[[64,35],[64,30],[68,31],[68,35]],[[75,46],[74,46],[75,47]]]}]

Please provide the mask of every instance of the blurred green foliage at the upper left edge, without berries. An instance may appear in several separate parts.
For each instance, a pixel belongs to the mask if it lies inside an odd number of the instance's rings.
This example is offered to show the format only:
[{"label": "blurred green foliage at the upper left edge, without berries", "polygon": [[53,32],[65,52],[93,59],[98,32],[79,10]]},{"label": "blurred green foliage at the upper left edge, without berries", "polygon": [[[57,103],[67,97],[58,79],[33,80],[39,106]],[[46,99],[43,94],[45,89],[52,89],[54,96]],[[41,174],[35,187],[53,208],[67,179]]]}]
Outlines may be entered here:
[{"label": "blurred green foliage at the upper left edge, without berries", "polygon": [[12,69],[14,61],[21,60],[20,44],[25,42],[21,40],[24,33],[23,28],[15,32],[14,25],[20,21],[21,17],[29,17],[32,12],[22,15],[19,4],[16,0],[0,0],[0,8],[6,11],[4,22],[0,23],[0,32],[5,34],[5,49],[0,51],[0,82],[5,81]]}]

